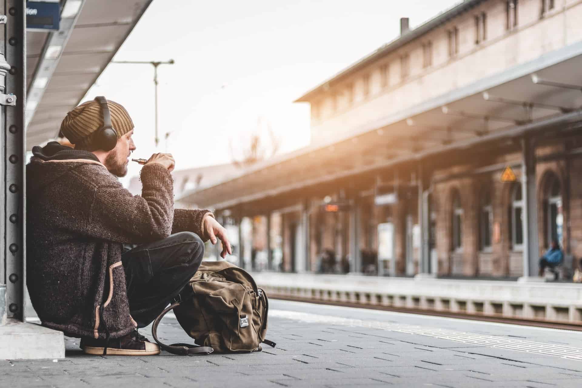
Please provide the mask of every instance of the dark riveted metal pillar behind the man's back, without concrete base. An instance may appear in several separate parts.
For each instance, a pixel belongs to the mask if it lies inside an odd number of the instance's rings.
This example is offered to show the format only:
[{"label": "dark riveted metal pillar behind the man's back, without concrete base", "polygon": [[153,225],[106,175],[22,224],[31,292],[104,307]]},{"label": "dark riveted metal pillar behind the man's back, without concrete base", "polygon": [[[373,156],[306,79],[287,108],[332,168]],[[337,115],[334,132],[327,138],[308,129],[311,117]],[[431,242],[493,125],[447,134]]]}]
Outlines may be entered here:
[{"label": "dark riveted metal pillar behind the man's back, without concrete base", "polygon": [[[2,312],[20,321],[26,319],[26,245],[24,244],[24,106],[26,105],[26,31],[23,0],[5,0],[3,55],[0,55],[0,106],[4,144],[2,148],[2,229],[3,258],[0,284],[6,284]],[[9,62],[7,62],[7,60]],[[8,74],[7,74],[8,73]],[[3,87],[3,85],[6,87]],[[5,272],[2,273],[2,269]],[[0,292],[0,297],[2,293]],[[0,301],[2,304],[2,301]],[[7,311],[6,311],[7,309]],[[0,319],[1,321],[1,319]]]}]

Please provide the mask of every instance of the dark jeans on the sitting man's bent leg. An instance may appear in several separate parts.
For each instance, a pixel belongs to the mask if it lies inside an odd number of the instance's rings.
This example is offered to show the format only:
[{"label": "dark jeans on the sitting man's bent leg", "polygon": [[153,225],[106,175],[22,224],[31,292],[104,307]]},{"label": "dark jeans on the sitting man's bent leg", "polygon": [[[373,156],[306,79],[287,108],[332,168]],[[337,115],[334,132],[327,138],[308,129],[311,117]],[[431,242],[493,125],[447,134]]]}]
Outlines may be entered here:
[{"label": "dark jeans on the sitting man's bent leg", "polygon": [[138,328],[153,322],[178,296],[203,256],[203,241],[190,232],[172,234],[123,252],[127,299]]}]

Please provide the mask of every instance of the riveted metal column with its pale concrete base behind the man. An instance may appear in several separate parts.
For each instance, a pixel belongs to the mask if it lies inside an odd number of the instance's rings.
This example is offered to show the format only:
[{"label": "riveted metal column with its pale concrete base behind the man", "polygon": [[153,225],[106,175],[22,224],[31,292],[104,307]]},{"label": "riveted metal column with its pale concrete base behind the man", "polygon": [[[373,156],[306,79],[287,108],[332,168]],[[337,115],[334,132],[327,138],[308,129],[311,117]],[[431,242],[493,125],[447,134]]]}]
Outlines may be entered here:
[{"label": "riveted metal column with its pale concrete base behind the man", "polygon": [[0,16],[3,20],[0,24],[3,29],[0,47],[3,52],[0,54],[0,133],[3,136],[0,147],[3,181],[3,190],[0,190],[3,234],[0,242],[0,359],[64,358],[62,332],[26,323],[25,2],[0,2]]}]

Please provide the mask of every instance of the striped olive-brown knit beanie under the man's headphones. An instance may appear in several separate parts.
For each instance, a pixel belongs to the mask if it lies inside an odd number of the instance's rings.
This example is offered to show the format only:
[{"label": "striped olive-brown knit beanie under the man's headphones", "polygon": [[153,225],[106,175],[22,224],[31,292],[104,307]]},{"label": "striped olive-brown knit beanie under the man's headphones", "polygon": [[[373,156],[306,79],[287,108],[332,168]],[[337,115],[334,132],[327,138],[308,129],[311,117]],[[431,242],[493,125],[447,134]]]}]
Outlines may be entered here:
[{"label": "striped olive-brown knit beanie under the man's headphones", "polygon": [[[129,113],[115,101],[107,100],[107,106],[111,113],[111,125],[120,138],[133,129],[132,118]],[[77,147],[90,147],[92,134],[103,127],[103,114],[98,101],[83,102],[67,113],[61,123],[61,133]]]}]

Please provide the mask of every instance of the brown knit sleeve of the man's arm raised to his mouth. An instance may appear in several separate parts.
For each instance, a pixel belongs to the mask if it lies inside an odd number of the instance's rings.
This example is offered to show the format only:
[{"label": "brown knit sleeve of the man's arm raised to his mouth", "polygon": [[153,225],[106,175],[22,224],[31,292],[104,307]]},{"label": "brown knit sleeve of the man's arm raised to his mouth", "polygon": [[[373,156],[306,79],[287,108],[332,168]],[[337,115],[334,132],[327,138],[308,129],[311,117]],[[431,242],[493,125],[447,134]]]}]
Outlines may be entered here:
[{"label": "brown knit sleeve of the man's arm raised to his mouth", "polygon": [[164,166],[152,163],[141,169],[141,183],[141,196],[134,196],[112,176],[99,176],[88,234],[137,244],[168,237],[174,216],[172,176]]}]

